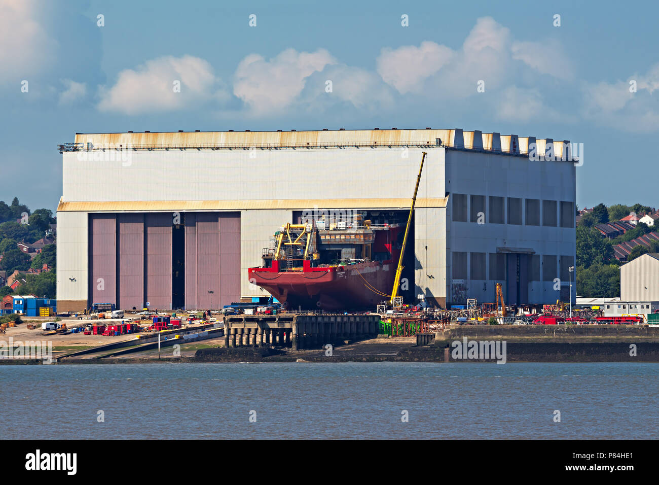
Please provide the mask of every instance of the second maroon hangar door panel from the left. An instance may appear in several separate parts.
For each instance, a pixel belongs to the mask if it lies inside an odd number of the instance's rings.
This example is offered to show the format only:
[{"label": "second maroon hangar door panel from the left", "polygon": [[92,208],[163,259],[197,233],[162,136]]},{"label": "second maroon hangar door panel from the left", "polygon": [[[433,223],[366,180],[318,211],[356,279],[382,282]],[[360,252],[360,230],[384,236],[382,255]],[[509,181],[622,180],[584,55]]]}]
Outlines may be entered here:
[{"label": "second maroon hangar door panel from the left", "polygon": [[119,302],[117,307],[144,306],[144,214],[117,214],[119,227]]}]

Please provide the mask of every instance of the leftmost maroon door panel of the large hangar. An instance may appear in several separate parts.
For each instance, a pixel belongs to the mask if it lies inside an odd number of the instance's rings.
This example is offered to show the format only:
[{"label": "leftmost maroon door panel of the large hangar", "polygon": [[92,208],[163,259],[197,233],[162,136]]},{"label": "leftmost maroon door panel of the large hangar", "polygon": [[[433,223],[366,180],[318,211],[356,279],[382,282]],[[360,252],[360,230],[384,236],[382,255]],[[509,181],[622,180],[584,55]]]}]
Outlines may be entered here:
[{"label": "leftmost maroon door panel of the large hangar", "polygon": [[88,237],[90,304],[116,304],[115,214],[90,214]]}]

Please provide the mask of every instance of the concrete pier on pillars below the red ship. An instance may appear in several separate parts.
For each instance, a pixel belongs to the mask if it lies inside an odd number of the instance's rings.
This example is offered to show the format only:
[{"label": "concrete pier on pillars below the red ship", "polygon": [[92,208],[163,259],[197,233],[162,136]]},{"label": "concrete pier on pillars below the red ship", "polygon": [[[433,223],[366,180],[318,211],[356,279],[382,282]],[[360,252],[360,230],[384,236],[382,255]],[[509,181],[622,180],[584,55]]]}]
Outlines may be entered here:
[{"label": "concrete pier on pillars below the red ship", "polygon": [[380,315],[232,315],[224,319],[225,347],[290,346],[293,350],[377,337]]}]

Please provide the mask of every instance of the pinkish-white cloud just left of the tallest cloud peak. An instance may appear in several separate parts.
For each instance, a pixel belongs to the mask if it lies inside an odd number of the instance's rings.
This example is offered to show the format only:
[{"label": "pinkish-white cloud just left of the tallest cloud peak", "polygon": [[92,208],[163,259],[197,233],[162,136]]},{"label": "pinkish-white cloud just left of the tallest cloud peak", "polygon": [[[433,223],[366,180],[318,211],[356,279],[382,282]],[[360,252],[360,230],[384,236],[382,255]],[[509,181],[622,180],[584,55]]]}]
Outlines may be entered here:
[{"label": "pinkish-white cloud just left of the tallest cloud peak", "polygon": [[423,81],[437,73],[455,53],[446,46],[424,41],[420,46],[384,48],[377,59],[378,74],[401,94],[421,92]]}]

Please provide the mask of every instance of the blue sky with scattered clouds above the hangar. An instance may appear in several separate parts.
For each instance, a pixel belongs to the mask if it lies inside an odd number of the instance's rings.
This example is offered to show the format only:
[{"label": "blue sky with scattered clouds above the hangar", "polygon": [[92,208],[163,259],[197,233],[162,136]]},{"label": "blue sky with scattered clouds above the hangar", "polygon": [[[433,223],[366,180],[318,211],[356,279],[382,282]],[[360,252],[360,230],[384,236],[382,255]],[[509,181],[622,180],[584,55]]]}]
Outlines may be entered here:
[{"label": "blue sky with scattered clouds above the hangar", "polygon": [[659,207],[658,16],[651,1],[0,0],[0,200],[54,211],[57,145],[76,132],[432,127],[583,143],[579,207]]}]

